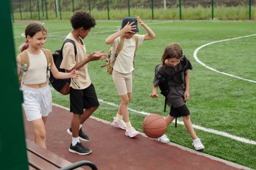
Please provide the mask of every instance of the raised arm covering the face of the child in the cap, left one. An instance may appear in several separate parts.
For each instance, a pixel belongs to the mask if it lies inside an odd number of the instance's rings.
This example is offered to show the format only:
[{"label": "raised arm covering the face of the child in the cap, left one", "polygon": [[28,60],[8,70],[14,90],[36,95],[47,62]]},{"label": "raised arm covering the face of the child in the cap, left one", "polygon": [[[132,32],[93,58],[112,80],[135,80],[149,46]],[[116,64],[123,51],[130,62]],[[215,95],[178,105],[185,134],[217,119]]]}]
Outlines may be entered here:
[{"label": "raised arm covering the face of the child in the cap, left one", "polygon": [[118,32],[115,32],[114,34],[111,34],[110,36],[108,36],[108,38],[106,38],[106,40],[105,40],[105,43],[112,45],[112,44],[114,44],[115,39],[117,37],[121,36],[122,34],[125,34],[126,32],[135,33],[135,32],[132,31],[136,28],[135,25],[131,26],[131,24],[133,24],[133,23],[134,22],[132,22],[132,23],[128,22],[123,29],[119,30]]}]

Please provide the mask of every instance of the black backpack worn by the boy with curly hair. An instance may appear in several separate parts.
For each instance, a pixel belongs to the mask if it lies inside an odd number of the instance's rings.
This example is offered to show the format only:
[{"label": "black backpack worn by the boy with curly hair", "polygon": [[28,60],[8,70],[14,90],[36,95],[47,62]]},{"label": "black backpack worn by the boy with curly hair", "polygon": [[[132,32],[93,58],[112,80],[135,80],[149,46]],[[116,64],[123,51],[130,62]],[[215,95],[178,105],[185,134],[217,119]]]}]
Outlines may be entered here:
[{"label": "black backpack worn by the boy with curly hair", "polygon": [[[65,69],[61,69],[59,67],[61,66],[61,62],[63,60],[62,50],[63,50],[63,46],[66,42],[71,42],[73,44],[74,50],[75,50],[75,55],[77,54],[75,42],[70,39],[66,39],[63,42],[61,50],[55,50],[55,53],[53,54],[53,62],[55,63],[55,66],[57,67],[58,71],[63,72],[63,73],[65,73]],[[51,85],[53,86],[53,88],[55,90],[59,91],[59,93],[61,93],[63,95],[68,95],[70,93],[69,85],[70,85],[71,79],[55,79],[55,77],[53,77],[53,74],[50,73],[49,81],[50,81]]]}]

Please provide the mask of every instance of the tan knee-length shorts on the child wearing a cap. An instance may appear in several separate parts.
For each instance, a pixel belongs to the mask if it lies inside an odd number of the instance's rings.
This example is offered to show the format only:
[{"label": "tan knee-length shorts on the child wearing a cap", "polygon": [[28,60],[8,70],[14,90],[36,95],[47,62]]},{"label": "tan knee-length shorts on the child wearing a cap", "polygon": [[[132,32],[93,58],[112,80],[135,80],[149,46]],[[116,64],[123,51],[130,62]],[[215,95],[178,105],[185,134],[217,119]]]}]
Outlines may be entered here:
[{"label": "tan knee-length shorts on the child wearing a cap", "polygon": [[133,87],[133,72],[124,74],[113,70],[112,77],[119,95],[131,93]]}]

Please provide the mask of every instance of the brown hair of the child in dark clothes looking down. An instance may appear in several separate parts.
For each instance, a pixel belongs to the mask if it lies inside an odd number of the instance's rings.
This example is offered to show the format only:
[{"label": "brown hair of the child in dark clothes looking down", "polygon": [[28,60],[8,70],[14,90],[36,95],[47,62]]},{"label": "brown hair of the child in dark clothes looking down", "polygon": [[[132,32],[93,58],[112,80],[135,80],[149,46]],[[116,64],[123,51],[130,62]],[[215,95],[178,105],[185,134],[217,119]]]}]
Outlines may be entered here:
[{"label": "brown hair of the child in dark clothes looking down", "polygon": [[168,44],[168,46],[166,46],[164,49],[164,54],[162,54],[162,65],[164,65],[164,61],[168,58],[181,59],[182,56],[183,50],[179,44]]}]

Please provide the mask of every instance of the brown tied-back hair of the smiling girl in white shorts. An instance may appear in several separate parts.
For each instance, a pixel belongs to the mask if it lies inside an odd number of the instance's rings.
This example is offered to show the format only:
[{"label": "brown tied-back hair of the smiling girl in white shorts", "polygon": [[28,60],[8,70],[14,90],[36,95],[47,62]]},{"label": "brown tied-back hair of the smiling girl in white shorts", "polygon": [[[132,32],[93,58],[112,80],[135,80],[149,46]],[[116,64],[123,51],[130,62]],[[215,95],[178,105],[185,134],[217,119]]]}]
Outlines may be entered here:
[{"label": "brown tied-back hair of the smiling girl in white shorts", "polygon": [[42,24],[40,24],[38,22],[31,22],[30,24],[28,24],[28,26],[25,29],[26,42],[21,44],[20,52],[26,50],[29,46],[27,37],[28,36],[33,37],[34,34],[36,34],[38,32],[46,32],[47,33],[47,30],[46,30],[46,28],[44,28],[44,26],[42,26]]}]

